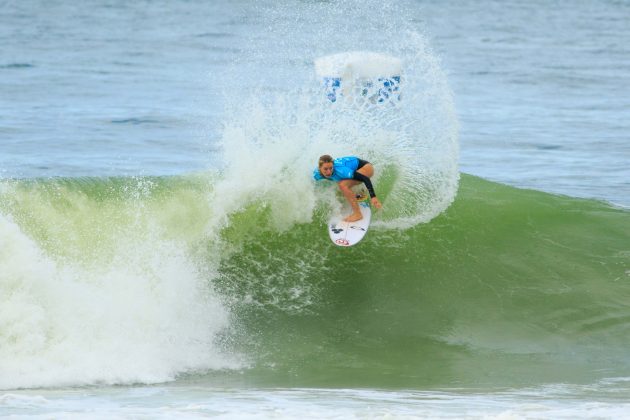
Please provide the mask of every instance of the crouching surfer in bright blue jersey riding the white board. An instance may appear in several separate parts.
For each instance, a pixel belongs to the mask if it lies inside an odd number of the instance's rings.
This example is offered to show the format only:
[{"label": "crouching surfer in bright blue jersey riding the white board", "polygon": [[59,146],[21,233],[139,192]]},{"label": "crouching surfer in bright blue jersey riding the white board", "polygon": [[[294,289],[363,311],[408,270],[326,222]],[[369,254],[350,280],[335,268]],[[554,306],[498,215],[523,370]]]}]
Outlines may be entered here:
[{"label": "crouching surfer in bright blue jersey riding the white board", "polygon": [[372,205],[377,209],[382,207],[381,202],[376,198],[372,181],[370,181],[373,175],[374,166],[367,160],[359,159],[356,156],[333,159],[330,155],[323,155],[319,158],[317,169],[313,171],[313,178],[316,181],[328,179],[339,183],[339,189],[352,207],[352,214],[343,219],[346,222],[356,222],[363,218],[357,197],[350,189],[355,185],[364,183],[370,193]]}]

